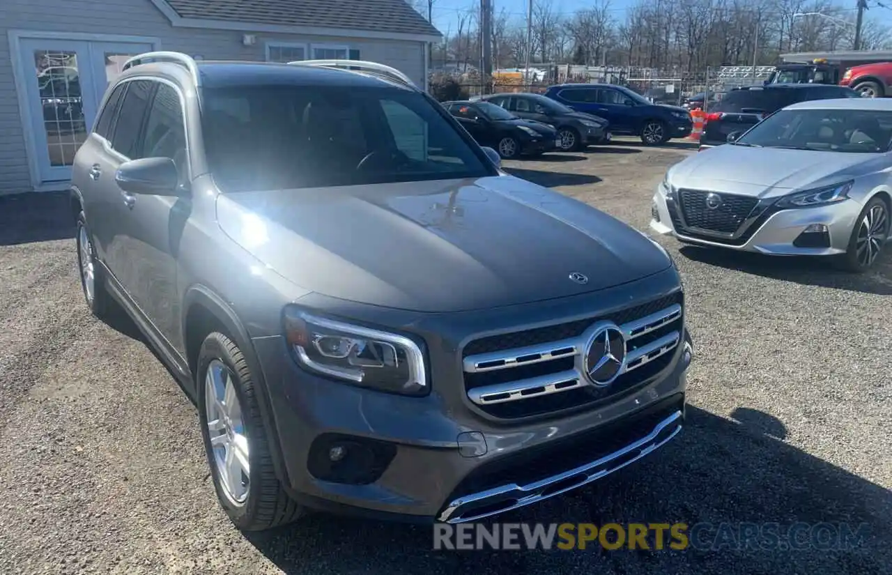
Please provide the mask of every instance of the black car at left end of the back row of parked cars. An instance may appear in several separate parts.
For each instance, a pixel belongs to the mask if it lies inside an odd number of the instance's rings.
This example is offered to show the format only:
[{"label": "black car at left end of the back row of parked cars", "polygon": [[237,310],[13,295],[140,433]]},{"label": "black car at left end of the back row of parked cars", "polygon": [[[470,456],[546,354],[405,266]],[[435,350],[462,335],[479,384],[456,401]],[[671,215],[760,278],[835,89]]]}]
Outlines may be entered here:
[{"label": "black car at left end of the back row of parked cars", "polygon": [[465,101],[442,105],[477,144],[494,148],[506,160],[522,155],[538,156],[557,147],[558,132],[554,127],[518,118],[493,103]]}]

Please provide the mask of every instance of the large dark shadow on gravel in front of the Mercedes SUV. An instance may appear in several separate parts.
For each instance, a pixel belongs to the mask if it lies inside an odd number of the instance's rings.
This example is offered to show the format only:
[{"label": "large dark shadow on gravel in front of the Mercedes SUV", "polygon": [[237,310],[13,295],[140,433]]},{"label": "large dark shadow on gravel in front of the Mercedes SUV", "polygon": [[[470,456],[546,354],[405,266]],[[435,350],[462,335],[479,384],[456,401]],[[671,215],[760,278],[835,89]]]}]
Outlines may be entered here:
[{"label": "large dark shadow on gravel in front of the Mercedes SUV", "polygon": [[[654,455],[590,488],[498,520],[685,522],[691,547],[683,551],[604,551],[597,544],[550,553],[434,551],[430,526],[321,514],[246,537],[293,575],[888,572],[892,493],[774,439],[786,431],[770,415],[739,409],[733,419],[689,406],[686,429]],[[835,538],[847,537],[838,535],[841,523],[847,524],[843,533],[849,529],[856,537],[848,539],[848,548],[830,550]],[[793,525],[798,527],[790,530]],[[747,539],[748,529],[756,533]]]}]

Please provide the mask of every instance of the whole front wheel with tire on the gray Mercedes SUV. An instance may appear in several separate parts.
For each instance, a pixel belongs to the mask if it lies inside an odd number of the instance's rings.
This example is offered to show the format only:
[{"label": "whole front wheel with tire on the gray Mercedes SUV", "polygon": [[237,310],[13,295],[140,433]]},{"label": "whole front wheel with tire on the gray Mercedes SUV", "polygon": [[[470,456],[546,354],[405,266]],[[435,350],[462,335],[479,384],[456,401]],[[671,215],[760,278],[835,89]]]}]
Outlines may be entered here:
[{"label": "whole front wheel with tire on the gray Mercedes SUV", "polygon": [[211,333],[198,355],[196,388],[202,440],[223,510],[244,531],[268,530],[305,513],[273,469],[260,393],[242,351]]}]

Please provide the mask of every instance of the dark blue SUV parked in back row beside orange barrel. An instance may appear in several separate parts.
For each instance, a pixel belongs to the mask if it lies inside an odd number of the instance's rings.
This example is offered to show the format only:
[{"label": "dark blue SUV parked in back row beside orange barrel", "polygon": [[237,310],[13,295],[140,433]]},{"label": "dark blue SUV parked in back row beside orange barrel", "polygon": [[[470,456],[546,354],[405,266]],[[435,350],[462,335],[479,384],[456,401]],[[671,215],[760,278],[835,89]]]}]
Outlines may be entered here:
[{"label": "dark blue SUV parked in back row beside orange barrel", "polygon": [[595,114],[610,122],[614,134],[640,136],[646,145],[690,136],[690,112],[679,106],[651,103],[629,88],[612,84],[558,84],[545,92],[575,111]]}]

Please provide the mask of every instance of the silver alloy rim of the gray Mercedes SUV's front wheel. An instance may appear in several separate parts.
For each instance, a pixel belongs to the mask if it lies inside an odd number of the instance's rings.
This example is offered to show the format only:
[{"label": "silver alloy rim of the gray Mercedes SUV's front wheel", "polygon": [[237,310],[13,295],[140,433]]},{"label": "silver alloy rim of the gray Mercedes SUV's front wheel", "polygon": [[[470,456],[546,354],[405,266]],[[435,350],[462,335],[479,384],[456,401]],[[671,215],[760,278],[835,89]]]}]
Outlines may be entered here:
[{"label": "silver alloy rim of the gray Mercedes SUV's front wheel", "polygon": [[248,436],[235,374],[219,359],[211,360],[204,378],[204,408],[220,486],[234,505],[244,505],[251,485]]}]

